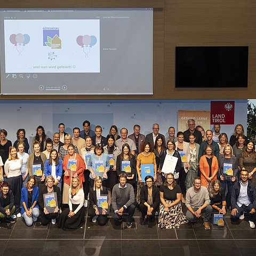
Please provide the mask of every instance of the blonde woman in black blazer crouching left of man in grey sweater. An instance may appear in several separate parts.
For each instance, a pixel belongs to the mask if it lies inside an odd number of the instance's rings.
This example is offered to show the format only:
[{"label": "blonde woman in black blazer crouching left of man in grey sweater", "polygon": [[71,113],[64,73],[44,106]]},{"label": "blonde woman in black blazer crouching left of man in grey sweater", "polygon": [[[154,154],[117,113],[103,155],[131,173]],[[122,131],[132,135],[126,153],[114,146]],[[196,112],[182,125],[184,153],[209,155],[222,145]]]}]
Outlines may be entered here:
[{"label": "blonde woman in black blazer crouching left of man in grey sweater", "polygon": [[96,176],[94,179],[93,188],[90,189],[90,207],[88,210],[88,215],[92,217],[92,222],[95,223],[98,220],[100,226],[104,226],[108,220],[106,210],[102,209],[102,213],[100,214],[97,204],[98,197],[102,195],[108,195],[108,190],[106,187],[102,186],[102,178],[100,176]]}]

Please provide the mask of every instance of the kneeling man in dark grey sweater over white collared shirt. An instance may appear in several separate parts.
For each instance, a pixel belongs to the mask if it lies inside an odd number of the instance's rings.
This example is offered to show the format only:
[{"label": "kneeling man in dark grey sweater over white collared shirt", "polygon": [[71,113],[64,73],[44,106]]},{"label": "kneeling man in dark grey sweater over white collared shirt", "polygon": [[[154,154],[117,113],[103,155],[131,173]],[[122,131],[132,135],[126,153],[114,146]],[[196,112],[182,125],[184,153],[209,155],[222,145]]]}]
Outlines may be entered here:
[{"label": "kneeling man in dark grey sweater over white collared shirt", "polygon": [[113,187],[111,204],[114,211],[114,220],[123,221],[123,213],[127,212],[127,228],[132,227],[132,217],[135,211],[134,190],[131,184],[126,183],[127,175],[119,175],[119,183]]}]

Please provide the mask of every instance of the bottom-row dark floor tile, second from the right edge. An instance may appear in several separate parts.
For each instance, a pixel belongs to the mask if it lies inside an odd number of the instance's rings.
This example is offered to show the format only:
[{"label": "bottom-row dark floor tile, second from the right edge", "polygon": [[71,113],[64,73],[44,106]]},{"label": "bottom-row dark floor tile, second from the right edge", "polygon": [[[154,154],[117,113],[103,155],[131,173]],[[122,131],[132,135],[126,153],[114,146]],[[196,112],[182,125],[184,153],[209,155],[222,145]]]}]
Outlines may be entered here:
[{"label": "bottom-row dark floor tile, second from the right edge", "polygon": [[214,240],[214,239],[207,239],[207,240],[197,240],[197,243],[199,245],[199,249],[201,253],[213,253],[214,255],[219,255],[220,253],[230,253],[230,254],[236,254],[238,252],[238,248],[236,246],[235,241],[228,240],[227,241],[221,241],[220,239]]}]

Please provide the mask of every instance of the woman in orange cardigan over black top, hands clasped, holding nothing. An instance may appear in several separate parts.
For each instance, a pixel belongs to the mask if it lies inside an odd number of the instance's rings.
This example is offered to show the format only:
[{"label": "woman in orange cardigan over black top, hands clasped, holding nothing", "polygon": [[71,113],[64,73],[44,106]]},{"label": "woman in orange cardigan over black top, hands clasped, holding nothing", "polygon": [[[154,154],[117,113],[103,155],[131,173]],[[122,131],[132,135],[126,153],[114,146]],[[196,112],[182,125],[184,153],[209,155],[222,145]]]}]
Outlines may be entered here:
[{"label": "woman in orange cardigan over black top, hands clasped, holding nothing", "polygon": [[208,187],[212,181],[217,180],[218,159],[212,154],[212,145],[207,145],[204,155],[199,161],[199,169],[201,172],[202,186]]}]

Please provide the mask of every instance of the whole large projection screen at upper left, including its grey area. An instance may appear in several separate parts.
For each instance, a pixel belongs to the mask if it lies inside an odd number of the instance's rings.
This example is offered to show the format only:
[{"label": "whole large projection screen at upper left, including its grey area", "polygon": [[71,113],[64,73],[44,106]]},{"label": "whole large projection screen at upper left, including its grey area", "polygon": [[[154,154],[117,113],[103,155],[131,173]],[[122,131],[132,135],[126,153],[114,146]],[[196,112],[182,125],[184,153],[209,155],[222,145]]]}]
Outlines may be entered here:
[{"label": "whole large projection screen at upper left, including its grey area", "polygon": [[0,9],[1,94],[153,94],[153,9]]}]

